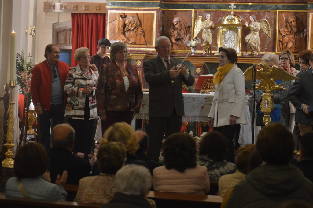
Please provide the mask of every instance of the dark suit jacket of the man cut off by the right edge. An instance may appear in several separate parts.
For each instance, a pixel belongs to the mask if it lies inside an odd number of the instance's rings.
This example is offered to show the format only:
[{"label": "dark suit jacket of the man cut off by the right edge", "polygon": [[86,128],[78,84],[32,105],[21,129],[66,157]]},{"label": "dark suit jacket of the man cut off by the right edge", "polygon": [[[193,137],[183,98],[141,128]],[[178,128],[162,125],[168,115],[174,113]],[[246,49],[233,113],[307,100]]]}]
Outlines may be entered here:
[{"label": "dark suit jacket of the man cut off by the right edge", "polygon": [[309,125],[313,116],[303,113],[300,109],[302,103],[313,105],[313,74],[312,69],[297,74],[289,93],[289,100],[295,106],[295,121],[299,124]]}]

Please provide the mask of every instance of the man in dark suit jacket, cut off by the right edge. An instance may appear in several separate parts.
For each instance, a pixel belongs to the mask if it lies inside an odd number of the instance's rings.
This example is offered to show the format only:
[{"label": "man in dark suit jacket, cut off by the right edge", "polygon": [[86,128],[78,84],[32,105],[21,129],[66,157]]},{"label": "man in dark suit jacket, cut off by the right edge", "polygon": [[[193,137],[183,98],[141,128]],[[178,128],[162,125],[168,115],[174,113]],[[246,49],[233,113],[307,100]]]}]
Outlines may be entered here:
[{"label": "man in dark suit jacket, cut off by the right edge", "polygon": [[[313,54],[310,57],[310,65],[313,66]],[[313,106],[313,71],[297,74],[297,77],[289,92],[289,100],[295,106],[295,121],[298,123],[300,134],[305,134],[313,129],[313,115],[308,107]]]}]

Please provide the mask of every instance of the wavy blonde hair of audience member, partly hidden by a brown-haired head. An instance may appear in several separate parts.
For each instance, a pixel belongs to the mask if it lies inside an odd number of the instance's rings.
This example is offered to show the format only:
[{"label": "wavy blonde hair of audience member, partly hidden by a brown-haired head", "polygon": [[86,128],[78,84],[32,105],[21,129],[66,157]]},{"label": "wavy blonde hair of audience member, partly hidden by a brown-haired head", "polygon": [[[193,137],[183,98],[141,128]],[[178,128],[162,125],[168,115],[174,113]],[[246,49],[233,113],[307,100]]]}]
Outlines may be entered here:
[{"label": "wavy blonde hair of audience member, partly hidden by a brown-haired head", "polygon": [[125,122],[115,123],[105,131],[100,143],[104,144],[107,141],[123,143],[126,152],[131,155],[135,154],[139,147],[135,131]]}]

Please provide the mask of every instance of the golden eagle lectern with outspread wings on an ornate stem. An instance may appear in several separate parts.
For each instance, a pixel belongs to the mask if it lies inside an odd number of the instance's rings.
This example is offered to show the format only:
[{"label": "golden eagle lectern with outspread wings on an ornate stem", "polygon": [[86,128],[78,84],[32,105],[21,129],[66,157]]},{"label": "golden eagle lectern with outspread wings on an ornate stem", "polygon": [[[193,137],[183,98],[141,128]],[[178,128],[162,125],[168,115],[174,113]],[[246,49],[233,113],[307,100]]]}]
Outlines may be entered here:
[{"label": "golden eagle lectern with outspread wings on an ornate stem", "polygon": [[[254,66],[250,66],[244,72],[244,80],[249,81],[253,80],[254,78]],[[265,126],[270,124],[271,118],[270,113],[274,109],[274,102],[273,102],[273,90],[286,90],[282,84],[276,84],[275,80],[294,80],[299,79],[287,73],[284,69],[273,66],[272,68],[267,65],[267,63],[259,63],[256,65],[255,70],[255,79],[259,79],[259,84],[255,85],[255,90],[263,90],[264,93],[261,95],[262,101],[260,104],[261,112],[264,113],[263,122]]]}]

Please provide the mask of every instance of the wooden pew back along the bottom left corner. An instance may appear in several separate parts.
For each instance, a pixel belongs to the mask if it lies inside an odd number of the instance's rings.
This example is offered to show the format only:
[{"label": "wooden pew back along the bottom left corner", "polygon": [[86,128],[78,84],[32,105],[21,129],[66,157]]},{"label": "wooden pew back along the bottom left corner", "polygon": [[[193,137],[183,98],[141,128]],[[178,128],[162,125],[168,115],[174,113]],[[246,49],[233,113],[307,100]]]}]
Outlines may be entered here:
[{"label": "wooden pew back along the bottom left corner", "polygon": [[95,208],[98,204],[77,203],[74,201],[51,201],[5,197],[0,193],[0,205],[3,208]]}]

